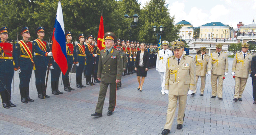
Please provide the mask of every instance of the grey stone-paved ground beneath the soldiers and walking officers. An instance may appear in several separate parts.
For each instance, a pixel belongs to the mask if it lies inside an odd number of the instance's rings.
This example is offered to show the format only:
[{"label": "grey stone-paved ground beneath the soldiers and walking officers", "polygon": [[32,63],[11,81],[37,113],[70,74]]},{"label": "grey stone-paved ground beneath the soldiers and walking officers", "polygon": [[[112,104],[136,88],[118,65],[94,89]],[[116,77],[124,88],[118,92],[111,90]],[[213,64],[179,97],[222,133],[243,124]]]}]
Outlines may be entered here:
[{"label": "grey stone-paved ground beneath the soldiers and walking officers", "polygon": [[[223,85],[223,101],[211,99],[210,77],[206,77],[204,96],[200,90],[194,97],[188,96],[183,129],[177,130],[174,119],[170,134],[175,135],[255,135],[256,105],[253,105],[252,80],[248,78],[242,102],[232,101],[234,79],[231,76],[232,60],[229,58],[229,74]],[[75,74],[71,83],[74,91],[66,92],[59,83],[61,95],[51,94],[50,76],[45,100],[37,98],[34,73],[33,90],[30,82],[30,98],[34,102],[20,102],[19,77],[14,75],[15,88],[12,102],[17,107],[0,107],[1,135],[159,135],[166,122],[168,96],[161,95],[158,72],[147,73],[143,92],[137,90],[136,74],[122,77],[122,87],[117,90],[117,104],[113,115],[107,116],[109,91],[102,117],[92,117],[98,100],[99,84],[75,87]],[[60,80],[61,81],[61,80]],[[83,84],[85,84],[85,79]],[[197,89],[200,89],[200,79]],[[13,85],[12,85],[13,87]],[[178,109],[176,109],[177,117]]]}]

